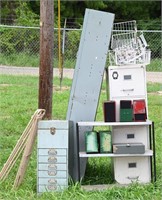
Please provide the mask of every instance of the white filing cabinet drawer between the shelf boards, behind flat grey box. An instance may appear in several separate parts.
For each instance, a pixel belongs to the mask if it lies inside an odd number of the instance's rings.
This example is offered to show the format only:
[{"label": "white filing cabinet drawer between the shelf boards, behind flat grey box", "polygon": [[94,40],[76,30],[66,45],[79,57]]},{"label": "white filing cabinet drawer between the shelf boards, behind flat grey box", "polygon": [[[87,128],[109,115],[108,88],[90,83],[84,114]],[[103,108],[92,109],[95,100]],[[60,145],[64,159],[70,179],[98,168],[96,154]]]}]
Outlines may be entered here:
[{"label": "white filing cabinet drawer between the shelf boards, behind flat grey box", "polygon": [[149,127],[113,127],[112,141],[113,143],[143,143],[145,149],[149,149]]}]

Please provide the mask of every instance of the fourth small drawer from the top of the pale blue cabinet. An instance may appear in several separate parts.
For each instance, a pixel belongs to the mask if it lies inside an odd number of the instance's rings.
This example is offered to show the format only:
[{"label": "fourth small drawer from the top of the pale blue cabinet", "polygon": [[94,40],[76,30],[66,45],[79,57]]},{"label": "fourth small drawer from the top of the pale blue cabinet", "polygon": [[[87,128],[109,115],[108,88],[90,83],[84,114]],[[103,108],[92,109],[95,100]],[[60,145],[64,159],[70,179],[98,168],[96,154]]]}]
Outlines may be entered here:
[{"label": "fourth small drawer from the top of the pale blue cabinet", "polygon": [[66,178],[67,171],[57,171],[57,170],[48,170],[48,171],[38,171],[38,177],[50,178]]}]

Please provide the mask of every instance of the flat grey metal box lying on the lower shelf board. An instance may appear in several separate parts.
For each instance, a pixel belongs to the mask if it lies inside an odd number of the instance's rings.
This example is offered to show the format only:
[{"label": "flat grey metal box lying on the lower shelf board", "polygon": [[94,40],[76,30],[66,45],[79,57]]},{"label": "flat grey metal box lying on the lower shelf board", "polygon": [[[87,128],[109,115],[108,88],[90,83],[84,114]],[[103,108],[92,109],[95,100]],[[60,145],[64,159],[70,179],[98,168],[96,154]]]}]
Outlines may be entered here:
[{"label": "flat grey metal box lying on the lower shelf board", "polygon": [[113,144],[114,154],[144,154],[145,145],[142,143],[118,143]]}]

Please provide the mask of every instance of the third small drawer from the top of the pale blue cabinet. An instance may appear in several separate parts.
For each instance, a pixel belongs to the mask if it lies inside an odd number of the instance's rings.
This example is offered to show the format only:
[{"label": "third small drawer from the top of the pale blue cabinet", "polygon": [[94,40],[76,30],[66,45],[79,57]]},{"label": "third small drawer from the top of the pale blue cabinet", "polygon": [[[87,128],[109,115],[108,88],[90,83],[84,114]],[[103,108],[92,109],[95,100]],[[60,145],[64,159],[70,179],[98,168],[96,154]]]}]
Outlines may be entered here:
[{"label": "third small drawer from the top of the pale blue cabinet", "polygon": [[38,164],[38,170],[67,170],[67,164]]}]

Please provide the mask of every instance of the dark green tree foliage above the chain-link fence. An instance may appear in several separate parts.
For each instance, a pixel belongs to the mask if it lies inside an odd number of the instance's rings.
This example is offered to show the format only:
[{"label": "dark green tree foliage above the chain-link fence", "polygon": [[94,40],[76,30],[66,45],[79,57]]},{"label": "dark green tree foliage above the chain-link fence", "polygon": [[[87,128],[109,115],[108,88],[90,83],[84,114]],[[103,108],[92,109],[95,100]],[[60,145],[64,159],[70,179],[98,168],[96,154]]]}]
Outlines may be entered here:
[{"label": "dark green tree foliage above the chain-link fence", "polygon": [[[11,23],[22,23],[21,25],[38,25],[40,15],[40,0],[33,1],[6,1],[2,0],[2,23],[7,17]],[[115,13],[116,21],[128,20],[150,20],[161,19],[160,1],[61,1],[61,20],[67,18],[69,26],[80,27],[83,22],[85,9],[103,10]],[[57,24],[58,4],[54,2],[55,23]],[[154,28],[152,28],[154,29]],[[160,29],[160,25],[158,26]]]}]

